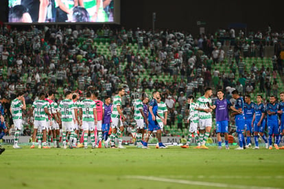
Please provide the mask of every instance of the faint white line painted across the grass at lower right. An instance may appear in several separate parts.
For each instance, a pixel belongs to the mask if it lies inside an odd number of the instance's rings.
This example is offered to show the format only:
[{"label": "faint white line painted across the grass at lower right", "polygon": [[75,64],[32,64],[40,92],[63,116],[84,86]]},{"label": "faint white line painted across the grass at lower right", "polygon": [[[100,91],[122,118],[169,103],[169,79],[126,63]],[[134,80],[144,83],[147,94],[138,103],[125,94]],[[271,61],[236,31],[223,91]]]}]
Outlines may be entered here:
[{"label": "faint white line painted across the grass at lower right", "polygon": [[127,179],[143,179],[148,181],[165,181],[177,184],[188,184],[188,185],[197,185],[197,186],[213,186],[213,187],[222,187],[222,188],[261,188],[261,189],[275,189],[272,187],[259,187],[259,186],[244,186],[244,185],[235,185],[235,184],[222,184],[222,183],[213,183],[205,181],[187,181],[187,180],[177,180],[177,179],[167,179],[161,177],[146,177],[146,176],[126,176]]}]

